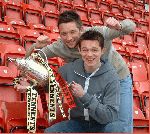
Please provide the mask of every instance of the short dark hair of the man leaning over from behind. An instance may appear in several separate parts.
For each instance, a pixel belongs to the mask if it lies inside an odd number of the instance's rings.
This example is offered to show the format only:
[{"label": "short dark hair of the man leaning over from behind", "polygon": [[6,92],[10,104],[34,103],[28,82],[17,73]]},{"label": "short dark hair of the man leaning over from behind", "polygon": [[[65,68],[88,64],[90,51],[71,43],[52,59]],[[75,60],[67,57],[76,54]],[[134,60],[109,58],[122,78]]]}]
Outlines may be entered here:
[{"label": "short dark hair of the man leaning over from behind", "polygon": [[67,11],[62,12],[59,15],[57,26],[59,27],[60,24],[62,24],[62,23],[68,23],[68,22],[75,22],[77,24],[77,27],[79,29],[82,27],[81,18],[76,13],[75,10],[67,10]]}]

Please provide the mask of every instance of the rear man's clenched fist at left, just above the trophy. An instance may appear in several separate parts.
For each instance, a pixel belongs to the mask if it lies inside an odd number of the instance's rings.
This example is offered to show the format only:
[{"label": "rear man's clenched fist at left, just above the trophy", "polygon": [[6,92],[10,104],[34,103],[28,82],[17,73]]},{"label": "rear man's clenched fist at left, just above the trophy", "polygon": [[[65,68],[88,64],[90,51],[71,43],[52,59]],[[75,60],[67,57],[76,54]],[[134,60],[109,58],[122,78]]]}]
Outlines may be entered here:
[{"label": "rear man's clenched fist at left, just above the trophy", "polygon": [[41,48],[47,46],[48,44],[50,44],[50,38],[46,35],[40,35],[37,38],[35,48],[36,49],[41,49]]}]

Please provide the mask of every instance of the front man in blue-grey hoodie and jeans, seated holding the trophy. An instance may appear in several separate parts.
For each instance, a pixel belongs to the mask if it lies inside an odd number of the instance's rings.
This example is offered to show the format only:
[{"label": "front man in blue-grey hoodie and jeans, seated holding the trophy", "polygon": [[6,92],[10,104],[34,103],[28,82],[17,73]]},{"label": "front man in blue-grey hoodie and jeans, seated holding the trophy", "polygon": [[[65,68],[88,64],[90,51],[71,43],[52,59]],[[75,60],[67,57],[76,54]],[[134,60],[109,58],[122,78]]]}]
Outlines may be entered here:
[{"label": "front man in blue-grey hoodie and jeans, seated holding the trophy", "polygon": [[116,70],[101,58],[103,36],[94,30],[78,41],[82,59],[60,67],[63,78],[71,83],[77,107],[70,110],[70,120],[56,123],[45,132],[104,132],[105,126],[118,120],[120,83]]}]

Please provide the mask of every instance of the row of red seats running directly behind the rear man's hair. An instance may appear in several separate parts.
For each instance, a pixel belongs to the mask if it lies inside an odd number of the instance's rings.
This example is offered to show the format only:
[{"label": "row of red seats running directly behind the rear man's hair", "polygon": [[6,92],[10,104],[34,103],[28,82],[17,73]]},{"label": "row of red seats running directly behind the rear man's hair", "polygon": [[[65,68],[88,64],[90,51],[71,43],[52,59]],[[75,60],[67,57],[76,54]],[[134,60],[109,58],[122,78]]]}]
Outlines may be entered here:
[{"label": "row of red seats running directly behind the rear man's hair", "polygon": [[[80,5],[74,5],[74,6],[69,6],[68,4],[61,4],[59,6],[56,1],[45,1],[44,7],[41,7],[40,5],[36,4],[37,1],[29,4],[25,3],[17,3],[13,1],[8,1],[8,2],[1,2],[2,5],[2,11],[3,11],[3,16],[1,13],[2,19],[4,16],[9,16],[9,17],[15,17],[19,19],[23,19],[26,24],[28,23],[44,23],[45,26],[49,25],[50,21],[46,21],[48,18],[55,17],[57,18],[59,12],[62,12],[64,10],[69,10],[69,9],[75,9],[83,19],[83,22],[86,23],[86,21],[89,23],[89,21],[92,21],[93,18],[92,14],[97,13],[99,14],[99,18],[102,15],[102,19],[104,20],[105,16],[108,14],[112,14],[113,16],[122,16],[123,18],[134,18],[134,19],[141,19],[143,18],[145,21],[148,19],[148,12],[147,11],[142,11],[138,9],[129,9],[128,6],[124,5],[124,9],[120,8],[120,5],[112,4],[112,8],[110,9],[110,3],[107,1],[101,1],[101,6],[99,9],[95,8],[86,8],[82,7]],[[34,5],[33,5],[34,4]],[[108,7],[107,7],[108,6]],[[104,16],[104,17],[103,17]],[[109,15],[110,16],[110,15]],[[91,18],[91,20],[90,20]],[[97,20],[99,19],[97,18]],[[34,20],[34,21],[33,21]],[[139,20],[138,20],[139,21]],[[147,20],[148,22],[148,20]]]}]

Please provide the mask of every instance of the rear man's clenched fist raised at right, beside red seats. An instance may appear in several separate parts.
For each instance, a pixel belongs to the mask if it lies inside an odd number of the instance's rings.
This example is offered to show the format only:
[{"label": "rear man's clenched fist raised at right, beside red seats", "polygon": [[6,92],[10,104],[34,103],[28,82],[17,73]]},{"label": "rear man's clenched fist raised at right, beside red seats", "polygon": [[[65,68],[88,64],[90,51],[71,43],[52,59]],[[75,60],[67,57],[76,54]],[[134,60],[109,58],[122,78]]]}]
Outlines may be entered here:
[{"label": "rear man's clenched fist raised at right, beside red seats", "polygon": [[113,17],[109,17],[106,20],[105,24],[107,27],[109,27],[111,29],[121,30],[121,28],[122,28],[120,22]]}]

